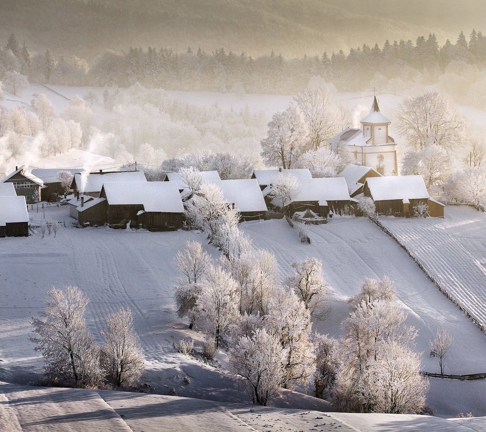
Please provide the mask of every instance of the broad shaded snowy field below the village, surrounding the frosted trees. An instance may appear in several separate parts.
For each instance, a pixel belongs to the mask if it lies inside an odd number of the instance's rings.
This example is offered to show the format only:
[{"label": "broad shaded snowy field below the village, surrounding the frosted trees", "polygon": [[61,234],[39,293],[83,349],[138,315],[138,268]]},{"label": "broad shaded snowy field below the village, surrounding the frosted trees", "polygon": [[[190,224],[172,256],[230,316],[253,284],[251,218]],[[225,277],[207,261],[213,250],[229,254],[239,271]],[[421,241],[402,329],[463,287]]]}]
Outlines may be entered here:
[{"label": "broad shaded snowy field below the village, surrounding the frosted trees", "polygon": [[[34,207],[29,212],[32,225],[42,216],[41,211],[37,213]],[[467,208],[458,210],[452,219],[459,220],[468,212]],[[189,331],[174,313],[171,278],[177,250],[188,239],[205,244],[204,234],[72,228],[67,206],[48,207],[46,217],[66,220],[66,228],[62,227],[56,238],[32,235],[0,240],[0,380],[26,384],[39,376],[42,360],[27,340],[31,330],[28,320],[43,309],[46,291],[71,284],[90,298],[87,318],[97,336],[109,313],[122,306],[131,308],[147,358],[145,380],[157,392],[168,394],[174,389],[179,396],[246,402],[227,373],[179,354],[172,347],[181,338],[192,337],[196,345],[201,340],[201,335]],[[437,290],[403,249],[368,220],[336,217],[327,225],[310,227],[311,245],[301,243],[283,220],[246,222],[241,228],[255,247],[275,253],[282,274],[290,263],[307,255],[322,260],[333,300],[332,317],[317,326],[319,331],[339,336],[339,323],[348,313],[347,298],[359,290],[363,278],[386,274],[396,282],[409,324],[419,329],[417,350],[424,352],[425,370],[436,372],[438,368],[428,356],[428,340],[437,328],[447,328],[455,343],[446,371],[486,371],[486,336]],[[218,256],[212,246],[205,248]],[[224,355],[220,360],[224,364]],[[184,376],[190,377],[191,384],[183,384]],[[471,411],[486,415],[485,387],[484,381],[432,379],[428,403],[440,416]],[[329,410],[323,401],[297,397],[292,392],[285,392],[274,402],[280,407]]]}]

